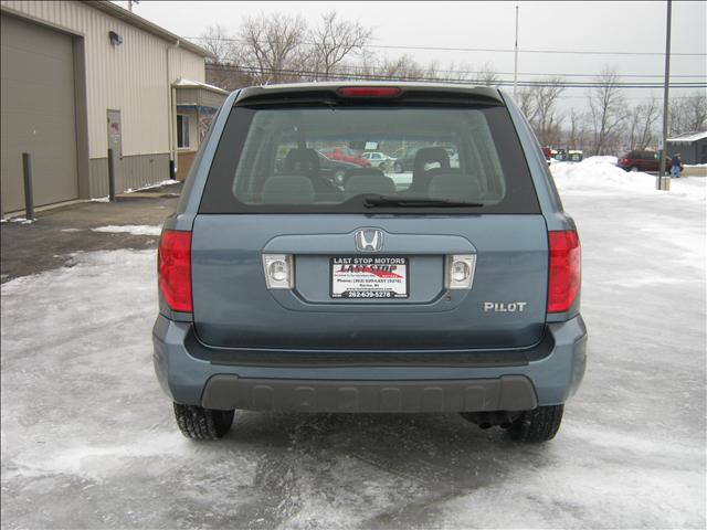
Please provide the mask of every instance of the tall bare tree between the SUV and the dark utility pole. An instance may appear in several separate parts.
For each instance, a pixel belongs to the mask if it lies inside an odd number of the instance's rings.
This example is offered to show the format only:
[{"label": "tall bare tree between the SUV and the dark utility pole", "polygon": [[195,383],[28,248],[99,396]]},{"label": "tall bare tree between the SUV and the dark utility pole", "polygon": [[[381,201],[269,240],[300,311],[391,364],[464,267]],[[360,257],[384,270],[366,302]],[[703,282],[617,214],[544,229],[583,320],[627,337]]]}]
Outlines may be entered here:
[{"label": "tall bare tree between the SUV and the dark utility pole", "polygon": [[592,151],[594,155],[604,155],[618,149],[626,110],[615,68],[604,66],[595,82],[598,86],[589,92]]}]

